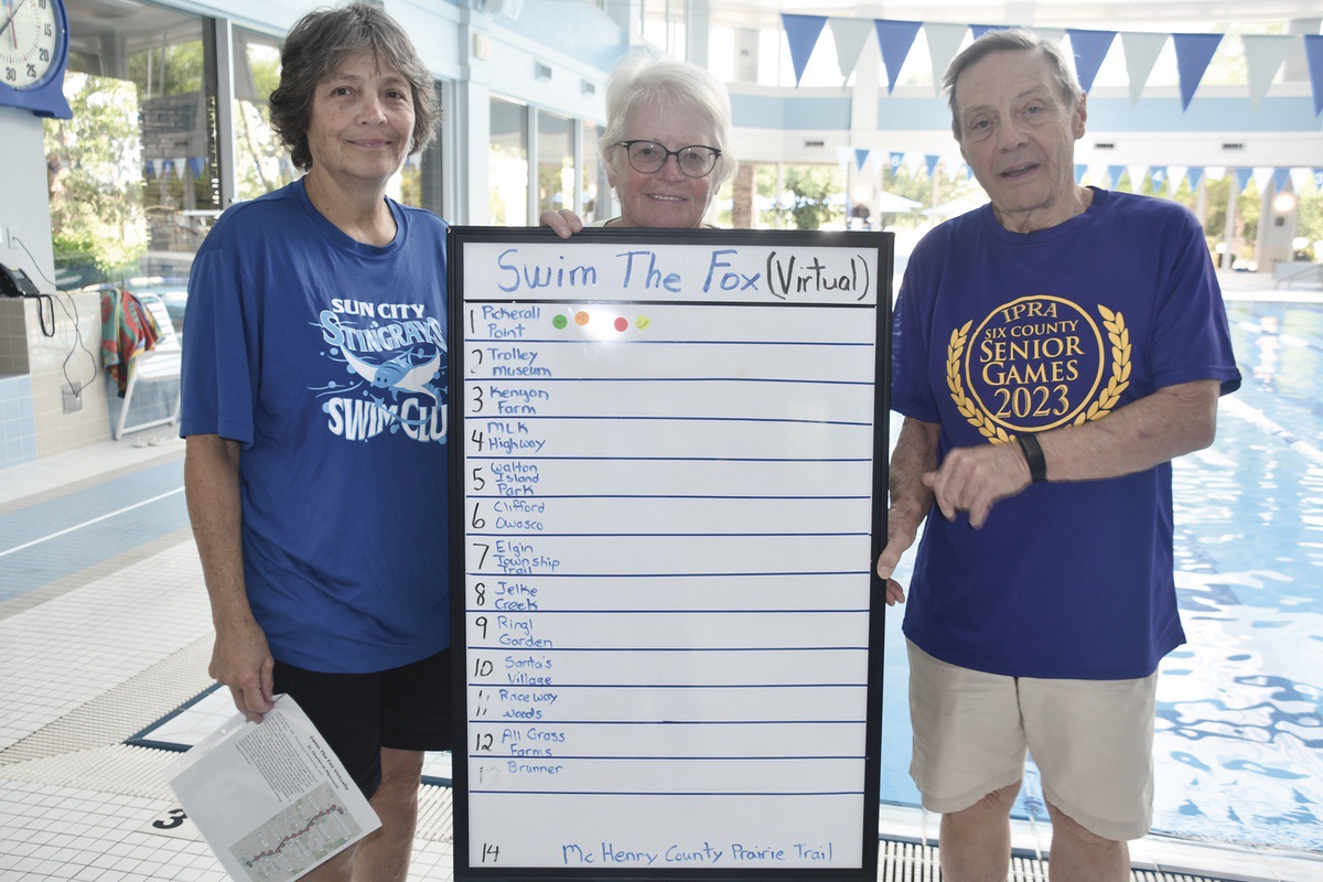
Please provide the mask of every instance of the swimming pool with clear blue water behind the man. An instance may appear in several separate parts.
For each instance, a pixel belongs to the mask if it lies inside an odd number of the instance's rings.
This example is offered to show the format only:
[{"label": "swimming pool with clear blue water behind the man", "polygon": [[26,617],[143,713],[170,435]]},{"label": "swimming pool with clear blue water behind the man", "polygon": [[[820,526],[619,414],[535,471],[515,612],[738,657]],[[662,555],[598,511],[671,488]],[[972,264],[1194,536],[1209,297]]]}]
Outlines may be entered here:
[{"label": "swimming pool with clear blue water behind the man", "polygon": [[[1154,832],[1323,852],[1323,304],[1229,300],[1228,315],[1242,386],[1216,443],[1174,469],[1188,643],[1160,668]],[[900,618],[881,799],[917,805]],[[1048,819],[1032,760],[1015,815]]]}]

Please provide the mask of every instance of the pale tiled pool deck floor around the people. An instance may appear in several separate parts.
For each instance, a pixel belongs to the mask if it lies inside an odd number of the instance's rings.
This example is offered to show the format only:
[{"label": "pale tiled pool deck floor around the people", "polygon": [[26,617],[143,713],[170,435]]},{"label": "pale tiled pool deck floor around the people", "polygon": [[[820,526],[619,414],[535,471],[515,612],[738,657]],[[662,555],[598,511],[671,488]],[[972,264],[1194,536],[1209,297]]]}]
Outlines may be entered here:
[{"label": "pale tiled pool deck floor around the people", "polygon": [[[1229,299],[1323,300],[1224,274]],[[212,623],[183,499],[184,444],[128,435],[0,471],[0,882],[220,881],[176,824],[168,751],[124,741],[212,685]],[[882,807],[880,878],[937,879],[937,816]],[[1017,822],[1016,879],[1045,879]],[[1323,879],[1323,856],[1148,837],[1135,879]],[[901,867],[908,867],[901,874]],[[423,788],[410,879],[451,879],[450,791]]]}]

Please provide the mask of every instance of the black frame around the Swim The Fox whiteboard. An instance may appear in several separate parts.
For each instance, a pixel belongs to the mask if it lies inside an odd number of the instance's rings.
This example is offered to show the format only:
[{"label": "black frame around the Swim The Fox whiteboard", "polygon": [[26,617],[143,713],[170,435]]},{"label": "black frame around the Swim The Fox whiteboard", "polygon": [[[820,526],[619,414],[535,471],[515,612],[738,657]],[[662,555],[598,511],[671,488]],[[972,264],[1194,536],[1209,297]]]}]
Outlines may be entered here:
[{"label": "black frame around the Swim The Fox whiteboard", "polygon": [[[890,431],[890,376],[892,376],[892,275],[894,272],[894,235],[872,231],[799,231],[799,230],[643,230],[643,229],[601,229],[590,227],[572,239],[560,241],[546,227],[500,227],[500,226],[451,226],[447,231],[448,258],[448,316],[447,346],[450,369],[448,430],[450,439],[450,640],[451,647],[451,689],[452,738],[452,821],[454,821],[454,878],[456,882],[496,881],[496,879],[557,879],[561,882],[599,882],[630,879],[738,879],[741,882],[790,882],[790,879],[822,879],[832,882],[875,882],[877,879],[877,848],[869,848],[878,841],[878,816],[881,789],[882,752],[882,659],[885,643],[885,583],[876,573],[869,581],[869,652],[865,722],[864,759],[864,829],[863,863],[859,867],[812,869],[795,866],[787,869],[597,869],[560,866],[474,866],[470,860],[468,833],[468,690],[467,673],[471,664],[467,651],[466,604],[467,584],[466,563],[466,520],[467,520],[467,480],[464,468],[466,403],[463,394],[466,376],[464,329],[464,246],[467,243],[540,243],[561,242],[565,249],[573,249],[576,242],[622,245],[747,245],[766,247],[769,245],[807,246],[823,249],[852,247],[877,251],[877,278],[872,280],[876,290],[876,339],[875,339],[875,405],[873,405],[873,499],[872,499],[872,538],[871,557],[873,561],[881,553],[886,541],[886,508],[889,484],[889,431]],[[660,296],[654,299],[663,299]],[[579,301],[593,303],[590,298]],[[516,299],[517,301],[517,299]],[[613,300],[610,303],[618,303]],[[486,419],[486,417],[484,417]]]}]

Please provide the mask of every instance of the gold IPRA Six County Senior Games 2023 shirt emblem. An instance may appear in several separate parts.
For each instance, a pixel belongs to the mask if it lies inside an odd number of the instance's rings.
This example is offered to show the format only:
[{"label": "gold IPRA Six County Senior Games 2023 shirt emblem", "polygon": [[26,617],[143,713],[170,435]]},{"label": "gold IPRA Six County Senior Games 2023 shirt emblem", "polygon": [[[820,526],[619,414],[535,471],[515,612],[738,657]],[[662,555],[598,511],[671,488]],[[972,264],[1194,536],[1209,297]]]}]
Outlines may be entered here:
[{"label": "gold IPRA Six County Senior Games 2023 shirt emblem", "polygon": [[946,386],[960,415],[998,444],[1111,413],[1130,385],[1130,331],[1122,313],[1097,311],[1037,294],[951,331]]}]

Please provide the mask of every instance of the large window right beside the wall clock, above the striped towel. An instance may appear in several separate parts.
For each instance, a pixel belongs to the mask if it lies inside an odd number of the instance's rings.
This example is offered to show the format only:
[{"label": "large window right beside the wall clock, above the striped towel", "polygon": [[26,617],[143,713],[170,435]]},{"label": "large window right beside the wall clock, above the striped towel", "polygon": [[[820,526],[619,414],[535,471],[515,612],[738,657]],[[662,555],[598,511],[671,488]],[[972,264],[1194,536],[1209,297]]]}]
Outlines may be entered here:
[{"label": "large window right beside the wall clock, above the striped towel", "polygon": [[56,280],[183,279],[220,210],[209,22],[87,9],[69,16],[74,116],[45,122]]}]

